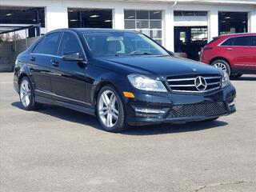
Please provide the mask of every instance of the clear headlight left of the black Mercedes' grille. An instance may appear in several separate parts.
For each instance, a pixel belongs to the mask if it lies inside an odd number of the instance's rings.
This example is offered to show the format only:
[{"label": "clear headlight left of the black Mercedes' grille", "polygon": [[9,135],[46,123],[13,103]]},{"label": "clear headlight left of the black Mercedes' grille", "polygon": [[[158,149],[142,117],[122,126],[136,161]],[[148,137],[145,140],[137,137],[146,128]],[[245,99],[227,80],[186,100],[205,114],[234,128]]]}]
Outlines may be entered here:
[{"label": "clear headlight left of the black Mercedes' grille", "polygon": [[138,90],[167,92],[166,87],[160,81],[140,74],[129,74],[127,77],[130,83]]}]

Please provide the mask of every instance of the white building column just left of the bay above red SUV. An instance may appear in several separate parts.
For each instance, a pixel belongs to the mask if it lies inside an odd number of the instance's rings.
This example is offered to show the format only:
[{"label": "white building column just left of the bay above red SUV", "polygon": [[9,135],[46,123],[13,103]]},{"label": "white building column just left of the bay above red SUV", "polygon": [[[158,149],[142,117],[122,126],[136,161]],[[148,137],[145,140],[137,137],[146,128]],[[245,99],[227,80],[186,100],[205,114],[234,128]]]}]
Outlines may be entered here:
[{"label": "white building column just left of the bay above red SUV", "polygon": [[208,42],[218,37],[218,10],[208,11]]}]

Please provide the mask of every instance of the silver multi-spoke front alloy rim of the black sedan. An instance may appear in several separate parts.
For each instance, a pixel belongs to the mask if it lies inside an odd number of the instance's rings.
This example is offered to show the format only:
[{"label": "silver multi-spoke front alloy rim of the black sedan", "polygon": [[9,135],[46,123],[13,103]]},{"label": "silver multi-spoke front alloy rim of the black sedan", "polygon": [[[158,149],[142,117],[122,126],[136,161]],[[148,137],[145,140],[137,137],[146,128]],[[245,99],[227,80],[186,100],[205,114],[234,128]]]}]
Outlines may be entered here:
[{"label": "silver multi-spoke front alloy rim of the black sedan", "polygon": [[106,127],[113,127],[119,118],[117,97],[111,90],[102,92],[98,103],[98,114]]}]

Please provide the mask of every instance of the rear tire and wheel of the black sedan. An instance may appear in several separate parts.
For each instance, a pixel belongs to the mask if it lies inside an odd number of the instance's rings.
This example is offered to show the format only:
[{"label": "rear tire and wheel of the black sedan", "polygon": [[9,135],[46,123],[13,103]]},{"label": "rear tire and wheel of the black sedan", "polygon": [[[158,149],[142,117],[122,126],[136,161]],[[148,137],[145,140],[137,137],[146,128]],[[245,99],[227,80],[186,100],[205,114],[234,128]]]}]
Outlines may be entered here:
[{"label": "rear tire and wheel of the black sedan", "polygon": [[24,77],[19,85],[19,99],[23,110],[38,110],[41,104],[35,102],[34,88],[30,78]]}]

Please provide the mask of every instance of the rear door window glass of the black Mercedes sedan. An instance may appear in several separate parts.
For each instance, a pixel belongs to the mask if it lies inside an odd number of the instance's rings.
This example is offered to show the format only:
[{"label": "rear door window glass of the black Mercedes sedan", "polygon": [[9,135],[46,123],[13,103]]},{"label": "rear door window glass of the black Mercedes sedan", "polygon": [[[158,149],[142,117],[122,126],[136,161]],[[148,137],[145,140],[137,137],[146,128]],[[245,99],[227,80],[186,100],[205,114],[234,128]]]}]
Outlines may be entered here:
[{"label": "rear door window glass of the black Mercedes sedan", "polygon": [[49,34],[42,41],[42,46],[39,51],[40,54],[55,54],[55,50],[58,46],[58,38],[61,33]]}]

